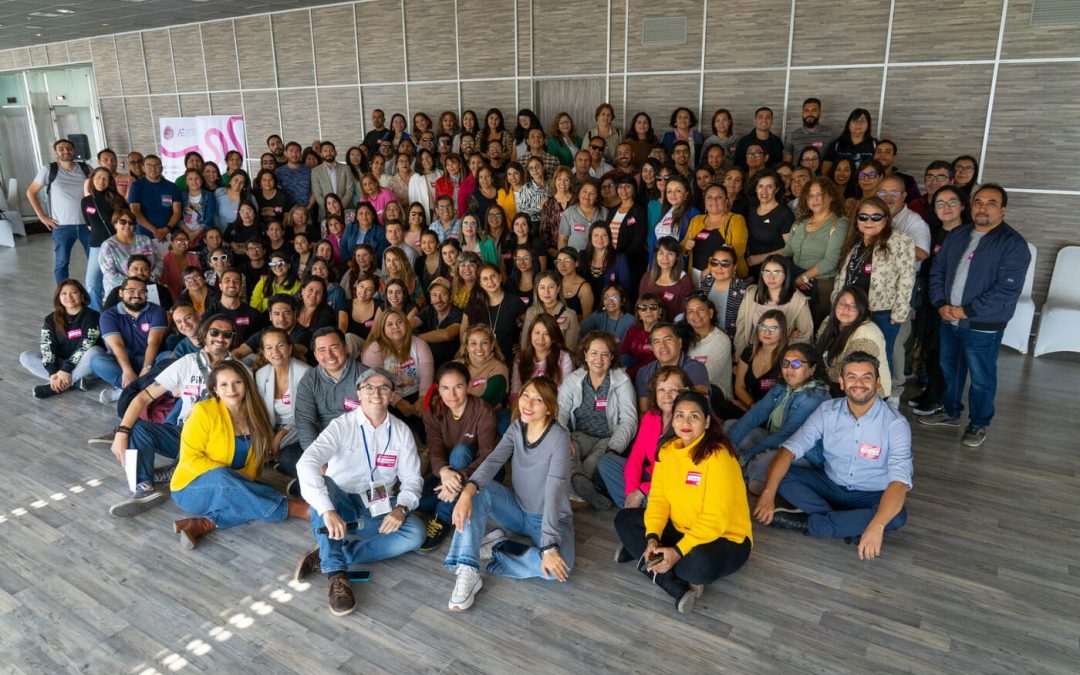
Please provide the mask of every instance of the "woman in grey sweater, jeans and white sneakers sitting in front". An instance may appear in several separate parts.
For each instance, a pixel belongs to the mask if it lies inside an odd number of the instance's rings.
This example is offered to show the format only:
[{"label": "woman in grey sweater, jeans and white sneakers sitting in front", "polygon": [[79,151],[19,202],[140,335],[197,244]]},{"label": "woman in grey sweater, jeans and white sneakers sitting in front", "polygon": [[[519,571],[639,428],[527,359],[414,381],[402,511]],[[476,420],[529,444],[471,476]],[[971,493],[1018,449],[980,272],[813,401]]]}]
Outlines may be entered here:
[{"label": "woman in grey sweater, jeans and white sneakers sitting in front", "polygon": [[[555,383],[546,377],[526,382],[514,423],[461,490],[453,516],[457,531],[443,563],[457,575],[451,610],[472,607],[483,586],[482,564],[488,573],[512,579],[566,581],[570,576],[570,433],[555,421],[556,396]],[[513,488],[495,481],[507,460]],[[530,543],[512,541],[499,528],[485,537],[488,516],[505,530],[528,537]]]}]

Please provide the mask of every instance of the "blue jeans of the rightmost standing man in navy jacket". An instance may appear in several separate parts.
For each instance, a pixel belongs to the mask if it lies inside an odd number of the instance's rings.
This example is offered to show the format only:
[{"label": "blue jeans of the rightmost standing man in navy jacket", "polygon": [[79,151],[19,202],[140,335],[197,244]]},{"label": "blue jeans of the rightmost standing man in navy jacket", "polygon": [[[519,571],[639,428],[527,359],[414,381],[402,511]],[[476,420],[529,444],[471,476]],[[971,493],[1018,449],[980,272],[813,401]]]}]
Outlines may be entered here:
[{"label": "blue jeans of the rightmost standing man in navy jacket", "polygon": [[998,351],[1003,332],[986,333],[941,323],[941,365],[945,376],[942,405],[949,417],[963,413],[963,386],[968,391],[968,417],[971,426],[985,429],[994,419],[994,397],[998,392]]}]

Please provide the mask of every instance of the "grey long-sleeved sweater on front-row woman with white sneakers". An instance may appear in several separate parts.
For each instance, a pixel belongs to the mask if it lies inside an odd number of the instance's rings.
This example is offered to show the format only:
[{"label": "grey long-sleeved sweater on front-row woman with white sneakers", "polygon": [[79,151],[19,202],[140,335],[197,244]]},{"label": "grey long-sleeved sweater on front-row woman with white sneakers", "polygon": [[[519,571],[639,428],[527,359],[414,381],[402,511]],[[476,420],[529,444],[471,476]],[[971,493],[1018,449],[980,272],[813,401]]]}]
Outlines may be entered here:
[{"label": "grey long-sleeved sweater on front-row woman with white sneakers", "polygon": [[472,474],[471,481],[484,489],[511,456],[517,504],[526,513],[543,515],[540,548],[559,545],[558,524],[572,515],[569,496],[570,432],[552,420],[540,441],[529,446],[525,443],[524,424],[514,422]]}]

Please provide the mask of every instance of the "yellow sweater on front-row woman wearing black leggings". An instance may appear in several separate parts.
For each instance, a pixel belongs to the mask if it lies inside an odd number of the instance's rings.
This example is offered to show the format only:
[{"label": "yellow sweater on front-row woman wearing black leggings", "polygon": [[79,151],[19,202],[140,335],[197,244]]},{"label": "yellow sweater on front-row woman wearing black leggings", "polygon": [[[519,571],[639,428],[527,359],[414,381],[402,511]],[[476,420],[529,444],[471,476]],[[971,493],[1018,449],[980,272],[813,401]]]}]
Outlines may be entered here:
[{"label": "yellow sweater on front-row woman wearing black leggings", "polygon": [[720,537],[735,543],[754,541],[739,460],[718,450],[694,464],[690,450],[700,442],[683,447],[673,438],[660,448],[645,508],[645,531],[659,538],[671,521],[683,534],[676,546],[684,556]]}]

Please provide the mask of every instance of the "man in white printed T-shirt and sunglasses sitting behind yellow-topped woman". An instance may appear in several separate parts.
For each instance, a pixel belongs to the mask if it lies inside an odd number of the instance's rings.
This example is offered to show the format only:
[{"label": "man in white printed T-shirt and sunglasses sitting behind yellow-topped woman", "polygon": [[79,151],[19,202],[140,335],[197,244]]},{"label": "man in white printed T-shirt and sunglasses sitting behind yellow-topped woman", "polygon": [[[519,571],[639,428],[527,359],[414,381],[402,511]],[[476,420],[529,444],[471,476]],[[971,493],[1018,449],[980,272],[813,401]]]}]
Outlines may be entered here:
[{"label": "man in white printed T-shirt and sunglasses sitting behind yellow-topped woman", "polygon": [[[125,451],[129,448],[138,450],[136,485],[131,497],[109,509],[110,515],[130,517],[167,499],[167,492],[158,489],[154,484],[167,483],[173,477],[173,467],[156,471],[154,455],[173,460],[179,457],[180,428],[191,414],[191,406],[206,397],[206,380],[211,369],[218,362],[231,359],[229,349],[234,337],[232,322],[227,318],[220,314],[207,318],[195,333],[197,340],[203,346],[202,350],[174,361],[127,405],[120,423],[112,430],[112,455],[123,465]],[[180,411],[175,424],[156,424],[139,419],[143,410],[165,394],[172,394],[180,401]]]}]

